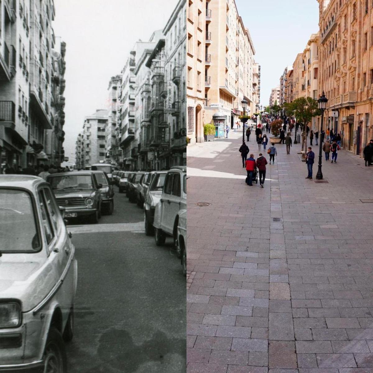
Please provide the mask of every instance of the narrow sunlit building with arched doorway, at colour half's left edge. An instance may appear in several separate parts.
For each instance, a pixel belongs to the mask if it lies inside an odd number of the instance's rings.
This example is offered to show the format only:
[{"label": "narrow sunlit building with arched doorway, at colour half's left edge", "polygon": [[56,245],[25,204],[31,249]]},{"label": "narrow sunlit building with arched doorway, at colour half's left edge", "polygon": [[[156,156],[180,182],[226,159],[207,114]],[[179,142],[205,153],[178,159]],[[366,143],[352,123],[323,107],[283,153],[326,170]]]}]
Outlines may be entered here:
[{"label": "narrow sunlit building with arched doorway, at colour half's left edge", "polygon": [[211,87],[209,64],[211,57],[207,47],[211,44],[210,22],[213,16],[209,8],[210,1],[195,0],[188,3],[186,34],[188,51],[186,54],[187,81],[187,137],[190,144],[203,142],[204,107],[207,106],[205,95]]}]

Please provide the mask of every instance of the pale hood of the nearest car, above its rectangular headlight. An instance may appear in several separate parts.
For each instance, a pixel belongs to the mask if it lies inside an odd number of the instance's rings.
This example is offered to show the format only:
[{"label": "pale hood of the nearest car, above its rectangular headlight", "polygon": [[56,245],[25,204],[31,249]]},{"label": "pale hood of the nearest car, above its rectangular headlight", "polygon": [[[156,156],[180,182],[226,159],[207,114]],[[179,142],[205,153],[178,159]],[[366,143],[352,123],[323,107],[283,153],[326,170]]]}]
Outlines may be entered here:
[{"label": "pale hood of the nearest car, above its rectangular headlight", "polygon": [[0,299],[20,300],[22,312],[36,307],[56,284],[51,264],[34,256],[3,254],[0,258]]}]

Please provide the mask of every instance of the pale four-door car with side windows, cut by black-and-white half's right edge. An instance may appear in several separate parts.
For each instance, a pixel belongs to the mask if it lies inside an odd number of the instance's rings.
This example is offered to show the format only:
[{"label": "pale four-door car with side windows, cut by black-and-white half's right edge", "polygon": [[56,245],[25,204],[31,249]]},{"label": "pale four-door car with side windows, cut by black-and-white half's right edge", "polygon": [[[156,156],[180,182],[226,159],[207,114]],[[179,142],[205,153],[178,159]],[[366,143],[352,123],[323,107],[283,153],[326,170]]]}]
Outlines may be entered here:
[{"label": "pale four-door car with side windows, cut by black-and-white half's right edge", "polygon": [[154,212],[156,245],[163,245],[166,236],[172,236],[178,255],[178,224],[181,210],[186,209],[186,166],[175,166],[167,171],[162,197]]}]

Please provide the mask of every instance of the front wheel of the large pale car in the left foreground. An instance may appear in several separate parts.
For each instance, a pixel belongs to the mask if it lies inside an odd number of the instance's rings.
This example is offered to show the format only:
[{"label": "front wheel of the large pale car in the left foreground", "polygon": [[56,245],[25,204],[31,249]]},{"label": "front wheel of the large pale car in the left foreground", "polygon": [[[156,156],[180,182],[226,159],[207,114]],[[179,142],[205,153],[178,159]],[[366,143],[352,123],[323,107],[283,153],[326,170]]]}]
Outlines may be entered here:
[{"label": "front wheel of the large pale car in the left foreground", "polygon": [[53,326],[49,329],[43,355],[44,372],[66,373],[66,349],[61,333]]}]

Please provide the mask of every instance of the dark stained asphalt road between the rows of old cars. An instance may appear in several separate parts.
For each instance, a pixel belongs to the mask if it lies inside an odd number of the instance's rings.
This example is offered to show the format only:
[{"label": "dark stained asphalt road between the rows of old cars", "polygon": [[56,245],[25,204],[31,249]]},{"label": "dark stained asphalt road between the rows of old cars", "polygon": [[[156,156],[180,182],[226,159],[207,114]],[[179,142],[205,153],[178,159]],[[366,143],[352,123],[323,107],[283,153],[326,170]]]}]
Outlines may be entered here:
[{"label": "dark stained asphalt road between the rows of old cars", "polygon": [[79,278],[68,373],[186,372],[186,280],[172,239],[157,247],[142,210],[115,190],[112,216],[69,228]]}]

